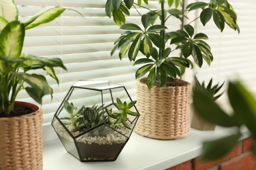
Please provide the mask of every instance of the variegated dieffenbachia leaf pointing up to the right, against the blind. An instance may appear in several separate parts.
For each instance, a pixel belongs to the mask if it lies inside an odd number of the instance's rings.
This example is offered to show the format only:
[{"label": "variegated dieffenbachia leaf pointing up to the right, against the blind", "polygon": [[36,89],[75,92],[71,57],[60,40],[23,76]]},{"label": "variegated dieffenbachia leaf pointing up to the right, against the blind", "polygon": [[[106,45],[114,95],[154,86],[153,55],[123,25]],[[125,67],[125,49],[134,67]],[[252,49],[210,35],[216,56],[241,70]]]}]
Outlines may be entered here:
[{"label": "variegated dieffenbachia leaf pointing up to the right, against the blind", "polygon": [[31,29],[33,27],[36,27],[37,25],[51,22],[55,18],[60,16],[60,14],[62,14],[62,12],[64,12],[65,10],[66,9],[62,7],[54,7],[52,9],[47,9],[39,12],[24,22],[25,28]]}]

